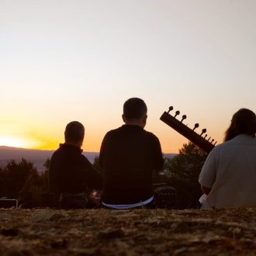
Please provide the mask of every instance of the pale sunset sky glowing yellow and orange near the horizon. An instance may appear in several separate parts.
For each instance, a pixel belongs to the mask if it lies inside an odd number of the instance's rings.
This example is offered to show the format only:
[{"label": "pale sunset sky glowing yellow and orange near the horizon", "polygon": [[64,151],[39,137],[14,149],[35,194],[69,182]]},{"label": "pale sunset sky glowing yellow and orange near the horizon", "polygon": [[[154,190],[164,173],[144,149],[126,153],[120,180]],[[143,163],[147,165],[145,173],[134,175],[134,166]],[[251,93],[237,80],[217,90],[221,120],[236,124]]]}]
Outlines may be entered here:
[{"label": "pale sunset sky glowing yellow and orange near the horizon", "polygon": [[0,145],[55,149],[78,120],[98,152],[131,97],[163,153],[188,143],[169,106],[220,144],[256,109],[255,27],[254,0],[0,0]]}]

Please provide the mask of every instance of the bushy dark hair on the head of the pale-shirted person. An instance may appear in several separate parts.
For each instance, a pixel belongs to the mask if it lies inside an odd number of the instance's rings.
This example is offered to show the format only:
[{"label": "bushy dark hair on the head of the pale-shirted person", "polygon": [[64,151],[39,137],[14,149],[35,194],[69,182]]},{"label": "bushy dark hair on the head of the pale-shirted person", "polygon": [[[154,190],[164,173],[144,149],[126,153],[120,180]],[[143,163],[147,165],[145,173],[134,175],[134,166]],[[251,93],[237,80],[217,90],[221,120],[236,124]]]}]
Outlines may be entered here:
[{"label": "bushy dark hair on the head of the pale-shirted person", "polygon": [[256,116],[250,109],[239,109],[234,113],[225,133],[224,141],[231,140],[242,133],[255,137]]}]

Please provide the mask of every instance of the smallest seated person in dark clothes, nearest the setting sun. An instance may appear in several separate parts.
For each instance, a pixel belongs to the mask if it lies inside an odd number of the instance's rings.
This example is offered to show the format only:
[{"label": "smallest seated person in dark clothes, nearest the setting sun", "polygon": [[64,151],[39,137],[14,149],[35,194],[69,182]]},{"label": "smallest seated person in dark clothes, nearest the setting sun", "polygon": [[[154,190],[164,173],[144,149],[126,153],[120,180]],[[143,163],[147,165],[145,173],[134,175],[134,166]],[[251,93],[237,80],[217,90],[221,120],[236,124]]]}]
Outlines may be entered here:
[{"label": "smallest seated person in dark clothes, nearest the setting sun", "polygon": [[102,189],[102,175],[81,154],[85,127],[77,121],[68,123],[64,137],[65,143],[50,159],[50,192],[60,196],[61,208],[91,207],[88,194],[92,189]]}]

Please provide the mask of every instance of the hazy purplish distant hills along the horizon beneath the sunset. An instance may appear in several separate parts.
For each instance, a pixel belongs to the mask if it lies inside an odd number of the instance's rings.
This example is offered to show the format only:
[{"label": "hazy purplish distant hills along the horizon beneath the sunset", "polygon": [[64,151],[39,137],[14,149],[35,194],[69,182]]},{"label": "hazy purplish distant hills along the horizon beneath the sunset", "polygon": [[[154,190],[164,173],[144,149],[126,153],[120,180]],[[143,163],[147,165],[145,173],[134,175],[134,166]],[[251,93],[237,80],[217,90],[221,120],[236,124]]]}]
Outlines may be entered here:
[{"label": "hazy purplish distant hills along the horizon beneath the sunset", "polygon": [[[21,161],[22,158],[34,164],[39,172],[44,171],[43,164],[54,154],[54,150],[31,150],[20,147],[6,147],[0,146],[0,167],[4,167],[8,161],[15,160]],[[93,163],[99,152],[83,152],[88,161]],[[164,154],[164,157],[172,158],[176,154]]]}]

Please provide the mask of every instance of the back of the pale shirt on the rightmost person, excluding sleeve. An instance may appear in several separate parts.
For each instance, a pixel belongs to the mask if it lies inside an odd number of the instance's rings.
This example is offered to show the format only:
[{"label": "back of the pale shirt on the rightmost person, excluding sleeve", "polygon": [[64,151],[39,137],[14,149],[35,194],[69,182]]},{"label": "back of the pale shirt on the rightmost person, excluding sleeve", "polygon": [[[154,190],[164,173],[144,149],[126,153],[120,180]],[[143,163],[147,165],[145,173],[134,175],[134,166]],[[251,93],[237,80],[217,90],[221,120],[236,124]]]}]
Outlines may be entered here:
[{"label": "back of the pale shirt on the rightmost person, excluding sleeve", "polygon": [[211,154],[218,169],[205,207],[256,206],[256,138],[238,135]]}]

